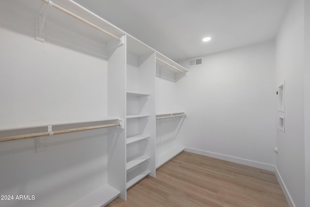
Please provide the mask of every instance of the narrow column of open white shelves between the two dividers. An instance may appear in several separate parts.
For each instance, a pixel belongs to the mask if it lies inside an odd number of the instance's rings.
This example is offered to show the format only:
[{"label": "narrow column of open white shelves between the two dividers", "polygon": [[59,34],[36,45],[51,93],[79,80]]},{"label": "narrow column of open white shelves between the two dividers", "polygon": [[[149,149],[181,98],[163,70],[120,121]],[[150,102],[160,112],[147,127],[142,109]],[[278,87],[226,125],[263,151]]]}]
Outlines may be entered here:
[{"label": "narrow column of open white shelves between the two dividers", "polygon": [[126,187],[155,177],[155,51],[127,37]]}]

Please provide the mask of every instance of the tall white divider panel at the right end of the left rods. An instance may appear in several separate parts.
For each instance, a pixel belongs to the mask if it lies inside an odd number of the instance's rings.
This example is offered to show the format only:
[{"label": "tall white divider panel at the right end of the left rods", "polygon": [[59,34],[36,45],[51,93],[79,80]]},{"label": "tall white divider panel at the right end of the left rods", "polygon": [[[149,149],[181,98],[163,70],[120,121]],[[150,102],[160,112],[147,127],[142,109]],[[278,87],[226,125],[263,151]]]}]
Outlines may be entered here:
[{"label": "tall white divider panel at the right end of the left rods", "polygon": [[[108,115],[124,120],[126,119],[125,60],[126,44],[116,48],[108,60]],[[123,127],[126,127],[125,121],[124,125]],[[120,191],[120,197],[126,200],[126,132],[124,129],[112,129],[108,131],[108,136],[108,183]]]}]

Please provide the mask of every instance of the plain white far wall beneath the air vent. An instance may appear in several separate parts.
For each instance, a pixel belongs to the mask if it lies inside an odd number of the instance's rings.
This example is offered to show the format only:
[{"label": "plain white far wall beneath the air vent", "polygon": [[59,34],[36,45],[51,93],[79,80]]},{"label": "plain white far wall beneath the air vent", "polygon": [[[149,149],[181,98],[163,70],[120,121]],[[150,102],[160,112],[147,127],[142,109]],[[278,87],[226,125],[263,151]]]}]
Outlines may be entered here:
[{"label": "plain white far wall beneath the air vent", "polygon": [[188,112],[178,143],[196,153],[272,170],[275,164],[275,45],[202,57],[177,82]]}]

